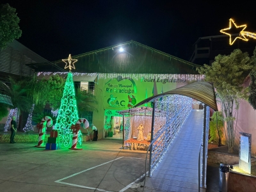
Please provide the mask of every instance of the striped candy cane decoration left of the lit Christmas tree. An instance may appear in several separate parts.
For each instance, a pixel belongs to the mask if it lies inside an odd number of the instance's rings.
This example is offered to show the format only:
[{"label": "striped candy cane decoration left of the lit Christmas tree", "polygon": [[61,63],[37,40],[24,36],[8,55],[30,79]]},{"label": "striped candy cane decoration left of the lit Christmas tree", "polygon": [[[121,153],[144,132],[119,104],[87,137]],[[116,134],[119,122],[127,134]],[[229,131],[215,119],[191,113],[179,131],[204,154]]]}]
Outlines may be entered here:
[{"label": "striped candy cane decoration left of the lit Christmas tree", "polygon": [[45,147],[44,146],[44,138],[45,138],[45,131],[46,127],[51,127],[52,126],[52,118],[50,116],[45,116],[41,120],[40,125],[36,125],[38,128],[39,132],[39,137],[38,137],[38,144],[35,147]]}]

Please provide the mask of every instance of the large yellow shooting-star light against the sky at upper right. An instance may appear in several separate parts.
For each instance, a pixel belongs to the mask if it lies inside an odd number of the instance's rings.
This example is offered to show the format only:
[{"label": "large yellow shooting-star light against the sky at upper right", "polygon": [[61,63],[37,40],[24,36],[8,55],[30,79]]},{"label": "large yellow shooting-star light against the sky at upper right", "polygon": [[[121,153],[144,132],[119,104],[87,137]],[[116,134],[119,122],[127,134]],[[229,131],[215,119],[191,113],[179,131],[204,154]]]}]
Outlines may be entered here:
[{"label": "large yellow shooting-star light against the sky at upper right", "polygon": [[[239,32],[239,36],[237,36],[233,41],[232,41],[232,34],[226,32],[226,31],[228,31],[232,28],[232,25],[234,25],[236,28],[241,28],[241,31]],[[256,34],[255,33],[244,31],[244,29],[246,29],[246,27],[247,27],[246,24],[243,24],[241,26],[237,26],[233,19],[229,19],[229,27],[225,28],[225,29],[221,29],[220,32],[229,36],[229,44],[230,45],[233,45],[234,42],[237,40],[237,38],[248,42],[248,38],[246,38],[245,36],[256,39]]]}]

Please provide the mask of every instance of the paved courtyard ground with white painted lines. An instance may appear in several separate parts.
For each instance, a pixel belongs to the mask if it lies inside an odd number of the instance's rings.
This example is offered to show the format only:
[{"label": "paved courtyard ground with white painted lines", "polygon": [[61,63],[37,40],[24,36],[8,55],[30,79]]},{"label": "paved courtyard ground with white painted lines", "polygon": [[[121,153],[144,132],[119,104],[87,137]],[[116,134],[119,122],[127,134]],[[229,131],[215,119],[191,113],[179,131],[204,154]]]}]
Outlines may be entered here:
[{"label": "paved courtyard ground with white painted lines", "polygon": [[83,150],[45,150],[36,143],[0,143],[0,191],[135,191],[145,152],[120,140],[85,142]]}]

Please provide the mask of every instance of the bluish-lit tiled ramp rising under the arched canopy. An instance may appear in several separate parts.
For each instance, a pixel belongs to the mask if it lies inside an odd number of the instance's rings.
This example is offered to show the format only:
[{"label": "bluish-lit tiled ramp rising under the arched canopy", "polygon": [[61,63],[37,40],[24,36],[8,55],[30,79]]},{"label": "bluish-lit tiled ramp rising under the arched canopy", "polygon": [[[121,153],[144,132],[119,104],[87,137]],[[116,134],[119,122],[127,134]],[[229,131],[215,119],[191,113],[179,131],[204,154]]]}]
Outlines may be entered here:
[{"label": "bluish-lit tiled ramp rising under the arched canopy", "polygon": [[198,192],[203,115],[203,110],[191,111],[152,177],[147,177],[145,191]]}]

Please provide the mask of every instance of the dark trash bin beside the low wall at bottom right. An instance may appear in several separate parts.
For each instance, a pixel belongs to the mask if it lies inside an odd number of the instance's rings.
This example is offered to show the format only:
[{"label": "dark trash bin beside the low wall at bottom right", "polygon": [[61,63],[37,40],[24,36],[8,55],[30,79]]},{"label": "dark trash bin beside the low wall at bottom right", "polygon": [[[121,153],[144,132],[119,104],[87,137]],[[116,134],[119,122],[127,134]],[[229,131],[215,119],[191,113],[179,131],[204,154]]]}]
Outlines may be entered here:
[{"label": "dark trash bin beside the low wall at bottom right", "polygon": [[229,171],[232,169],[233,166],[229,164],[220,164],[219,170],[219,191],[221,192],[228,192],[228,176]]}]

